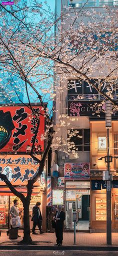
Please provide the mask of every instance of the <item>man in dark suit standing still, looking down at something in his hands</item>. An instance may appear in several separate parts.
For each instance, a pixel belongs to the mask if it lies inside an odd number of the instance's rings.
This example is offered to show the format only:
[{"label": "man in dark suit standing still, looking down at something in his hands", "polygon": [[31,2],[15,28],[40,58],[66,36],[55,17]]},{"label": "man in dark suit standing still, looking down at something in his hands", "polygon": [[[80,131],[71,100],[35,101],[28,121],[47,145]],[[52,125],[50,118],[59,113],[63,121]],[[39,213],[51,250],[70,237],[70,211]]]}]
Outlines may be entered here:
[{"label": "man in dark suit standing still, looking down at something in his hands", "polygon": [[57,246],[62,245],[62,232],[63,232],[63,221],[65,220],[65,212],[62,211],[62,205],[57,206],[55,213],[55,235],[56,235],[56,244]]}]

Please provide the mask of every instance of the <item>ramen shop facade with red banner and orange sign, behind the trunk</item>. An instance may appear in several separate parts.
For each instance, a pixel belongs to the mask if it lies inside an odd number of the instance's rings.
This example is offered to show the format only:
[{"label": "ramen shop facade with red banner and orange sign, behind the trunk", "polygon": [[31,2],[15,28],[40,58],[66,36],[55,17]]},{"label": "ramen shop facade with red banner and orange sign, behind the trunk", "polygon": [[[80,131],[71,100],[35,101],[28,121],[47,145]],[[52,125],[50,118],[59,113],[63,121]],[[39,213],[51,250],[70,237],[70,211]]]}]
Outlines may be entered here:
[{"label": "ramen shop facade with red banner and orange sign, behind the trunk", "polygon": [[[44,141],[40,140],[41,134],[44,133],[45,120],[41,106],[33,105],[33,111],[40,120],[40,129],[35,140],[35,148],[37,159],[41,159],[44,151]],[[38,172],[38,162],[30,156],[31,145],[36,130],[38,119],[35,117],[27,106],[15,104],[15,106],[1,106],[0,109],[0,172],[5,174],[11,184],[18,192],[24,196],[27,195],[27,181],[32,179]],[[21,228],[23,227],[23,205],[19,198],[11,193],[10,189],[0,179],[0,229],[8,228],[10,225],[9,209],[13,204],[13,200],[18,199]],[[35,182],[30,207],[30,228],[32,228],[32,207],[36,202],[41,202],[40,210],[42,213],[42,228],[46,230],[46,166]]]}]

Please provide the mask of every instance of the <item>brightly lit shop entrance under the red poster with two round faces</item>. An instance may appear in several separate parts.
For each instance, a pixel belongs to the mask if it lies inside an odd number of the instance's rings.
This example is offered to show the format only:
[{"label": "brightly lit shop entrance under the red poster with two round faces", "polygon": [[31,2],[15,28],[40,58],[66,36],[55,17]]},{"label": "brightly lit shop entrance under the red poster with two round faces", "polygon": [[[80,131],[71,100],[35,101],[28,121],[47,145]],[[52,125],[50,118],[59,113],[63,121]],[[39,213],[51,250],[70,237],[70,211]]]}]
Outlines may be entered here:
[{"label": "brightly lit shop entrance under the red poster with two round faces", "polygon": [[[71,187],[71,188],[70,188]],[[89,182],[66,183],[66,219],[67,229],[73,229],[72,212],[77,212],[76,230],[89,230],[90,189]]]}]

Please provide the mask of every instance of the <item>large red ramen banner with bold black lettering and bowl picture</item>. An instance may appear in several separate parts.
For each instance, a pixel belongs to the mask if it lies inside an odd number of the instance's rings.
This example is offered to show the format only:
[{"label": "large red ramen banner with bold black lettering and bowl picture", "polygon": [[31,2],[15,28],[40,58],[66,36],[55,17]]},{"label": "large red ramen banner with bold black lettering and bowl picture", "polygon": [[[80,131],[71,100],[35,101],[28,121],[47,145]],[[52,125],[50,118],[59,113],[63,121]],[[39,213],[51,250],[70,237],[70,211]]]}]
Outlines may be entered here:
[{"label": "large red ramen banner with bold black lettering and bowl picture", "polygon": [[[35,135],[38,118],[40,121],[35,146],[40,146],[40,151],[44,150],[44,141],[40,140],[40,136],[44,133],[44,116],[41,106],[32,106],[33,112],[26,106],[3,106],[0,108],[1,116],[5,113],[5,118],[0,118],[0,136],[7,137],[8,119],[7,113],[10,112],[14,129],[11,131],[11,137],[6,145],[0,150],[1,152],[26,152],[26,146],[31,146]],[[38,116],[35,116],[34,112]],[[2,120],[1,120],[2,119]],[[4,125],[3,125],[4,124]],[[6,124],[6,125],[5,125]],[[10,123],[9,123],[10,126]],[[6,138],[7,139],[7,138]]]}]

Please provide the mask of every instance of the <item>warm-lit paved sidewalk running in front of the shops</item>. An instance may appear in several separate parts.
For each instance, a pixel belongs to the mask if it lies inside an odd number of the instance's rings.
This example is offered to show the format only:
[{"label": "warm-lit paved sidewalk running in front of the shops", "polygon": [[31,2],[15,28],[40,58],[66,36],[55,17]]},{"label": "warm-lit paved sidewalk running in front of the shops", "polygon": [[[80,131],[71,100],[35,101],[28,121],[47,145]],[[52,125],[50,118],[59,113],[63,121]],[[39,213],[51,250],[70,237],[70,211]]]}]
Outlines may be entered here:
[{"label": "warm-lit paved sidewalk running in front of the shops", "polygon": [[[9,239],[6,232],[1,232],[0,245],[16,245],[20,241],[23,232],[18,232],[21,237],[17,239]],[[39,246],[53,246],[56,239],[55,233],[43,233],[32,235],[32,240],[37,242]],[[73,233],[63,233],[63,246],[73,246]],[[106,233],[76,233],[76,244],[74,246],[103,246],[106,247]],[[112,233],[112,245],[118,248],[118,233]]]}]

